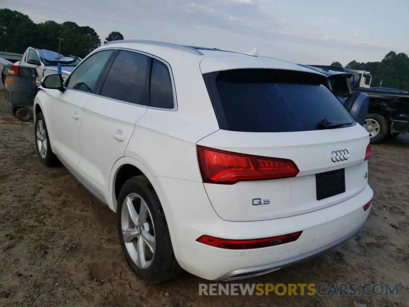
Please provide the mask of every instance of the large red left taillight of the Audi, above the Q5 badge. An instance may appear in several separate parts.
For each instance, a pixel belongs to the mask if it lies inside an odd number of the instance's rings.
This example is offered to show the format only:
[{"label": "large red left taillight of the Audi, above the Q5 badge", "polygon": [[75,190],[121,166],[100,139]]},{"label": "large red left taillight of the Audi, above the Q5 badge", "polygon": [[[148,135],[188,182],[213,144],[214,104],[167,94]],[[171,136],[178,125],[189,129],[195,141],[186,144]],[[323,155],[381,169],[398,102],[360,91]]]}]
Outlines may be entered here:
[{"label": "large red left taillight of the Audi, above the Q5 badge", "polygon": [[295,177],[294,162],[234,153],[197,146],[198,162],[204,183],[234,184],[238,181]]}]

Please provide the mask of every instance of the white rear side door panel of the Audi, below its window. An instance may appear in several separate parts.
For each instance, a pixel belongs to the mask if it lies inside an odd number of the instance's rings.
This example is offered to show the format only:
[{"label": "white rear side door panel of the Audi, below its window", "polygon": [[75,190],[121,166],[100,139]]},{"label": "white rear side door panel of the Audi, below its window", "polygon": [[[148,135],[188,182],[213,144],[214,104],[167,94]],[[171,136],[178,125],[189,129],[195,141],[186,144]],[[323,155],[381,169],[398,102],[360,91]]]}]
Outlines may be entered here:
[{"label": "white rear side door panel of the Audi, below its window", "polygon": [[[146,107],[94,95],[85,104],[81,119],[79,173],[108,199],[112,165],[124,156],[135,123]],[[116,137],[116,138],[115,138]]]}]

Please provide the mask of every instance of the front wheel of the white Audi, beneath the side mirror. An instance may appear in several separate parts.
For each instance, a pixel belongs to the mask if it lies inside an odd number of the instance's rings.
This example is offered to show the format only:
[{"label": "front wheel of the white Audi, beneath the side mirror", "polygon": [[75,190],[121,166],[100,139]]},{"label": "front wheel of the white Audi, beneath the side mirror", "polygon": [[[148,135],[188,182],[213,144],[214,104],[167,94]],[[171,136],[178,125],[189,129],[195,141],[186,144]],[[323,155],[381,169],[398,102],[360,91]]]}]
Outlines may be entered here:
[{"label": "front wheel of the white Audi, beneath the side mirror", "polygon": [[[40,128],[40,126],[42,126],[43,128]],[[36,122],[34,125],[34,137],[36,138],[36,149],[38,158],[40,159],[41,163],[43,163],[47,167],[57,165],[58,158],[52,152],[51,144],[48,138],[47,126],[45,125],[44,116],[41,112],[36,116]]]}]

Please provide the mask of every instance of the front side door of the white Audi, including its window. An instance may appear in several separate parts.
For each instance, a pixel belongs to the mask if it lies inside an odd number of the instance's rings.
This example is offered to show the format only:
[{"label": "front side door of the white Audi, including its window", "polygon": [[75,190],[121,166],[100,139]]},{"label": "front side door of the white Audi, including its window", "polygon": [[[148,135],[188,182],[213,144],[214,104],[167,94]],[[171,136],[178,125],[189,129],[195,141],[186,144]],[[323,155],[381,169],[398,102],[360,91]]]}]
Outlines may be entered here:
[{"label": "front side door of the white Audi, including its window", "polygon": [[97,80],[113,50],[103,50],[85,59],[67,79],[65,91],[52,90],[47,125],[56,153],[65,164],[78,168],[80,160],[79,129],[83,106],[92,97]]}]

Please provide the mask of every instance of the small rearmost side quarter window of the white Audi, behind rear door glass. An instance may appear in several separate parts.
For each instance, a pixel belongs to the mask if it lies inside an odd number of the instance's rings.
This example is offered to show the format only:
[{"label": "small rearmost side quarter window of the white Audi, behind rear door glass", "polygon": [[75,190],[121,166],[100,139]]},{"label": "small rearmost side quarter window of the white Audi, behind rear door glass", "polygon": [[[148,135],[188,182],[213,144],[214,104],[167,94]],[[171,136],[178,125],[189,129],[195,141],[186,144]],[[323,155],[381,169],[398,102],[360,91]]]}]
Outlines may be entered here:
[{"label": "small rearmost side quarter window of the white Audi, behind rear door glass", "polygon": [[169,69],[165,63],[156,59],[152,63],[150,105],[166,109],[173,109],[174,106]]}]

